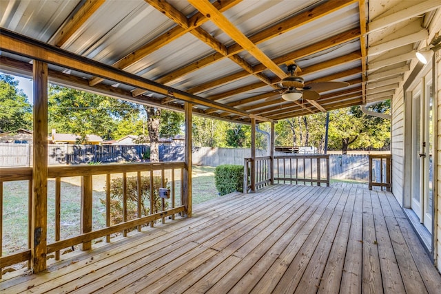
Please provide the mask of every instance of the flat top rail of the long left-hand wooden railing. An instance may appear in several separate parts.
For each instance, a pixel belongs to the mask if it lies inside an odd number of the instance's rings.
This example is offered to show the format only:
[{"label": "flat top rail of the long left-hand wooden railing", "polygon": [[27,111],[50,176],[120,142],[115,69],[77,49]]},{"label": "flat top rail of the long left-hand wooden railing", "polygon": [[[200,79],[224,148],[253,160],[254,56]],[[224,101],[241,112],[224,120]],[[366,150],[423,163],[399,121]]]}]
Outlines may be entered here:
[{"label": "flat top rail of the long left-hand wooden railing", "polygon": [[[143,162],[105,165],[68,165],[48,167],[48,178],[68,176],[93,176],[99,174],[119,174],[136,171],[158,171],[161,169],[181,169],[185,162]],[[32,167],[6,167],[0,169],[0,182],[31,180]]]}]

